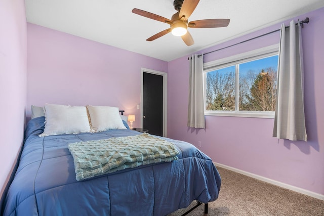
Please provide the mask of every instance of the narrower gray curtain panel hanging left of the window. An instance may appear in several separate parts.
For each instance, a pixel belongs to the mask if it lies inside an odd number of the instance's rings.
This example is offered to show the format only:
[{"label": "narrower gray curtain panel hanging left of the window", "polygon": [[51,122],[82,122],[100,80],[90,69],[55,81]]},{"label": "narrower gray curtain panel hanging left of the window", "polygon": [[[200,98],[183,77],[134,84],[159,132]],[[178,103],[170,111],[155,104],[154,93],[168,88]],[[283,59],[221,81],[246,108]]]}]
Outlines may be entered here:
[{"label": "narrower gray curtain panel hanging left of the window", "polygon": [[205,128],[203,55],[194,54],[189,59],[188,127]]}]

